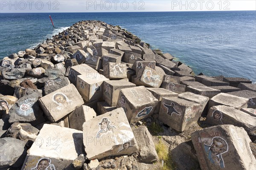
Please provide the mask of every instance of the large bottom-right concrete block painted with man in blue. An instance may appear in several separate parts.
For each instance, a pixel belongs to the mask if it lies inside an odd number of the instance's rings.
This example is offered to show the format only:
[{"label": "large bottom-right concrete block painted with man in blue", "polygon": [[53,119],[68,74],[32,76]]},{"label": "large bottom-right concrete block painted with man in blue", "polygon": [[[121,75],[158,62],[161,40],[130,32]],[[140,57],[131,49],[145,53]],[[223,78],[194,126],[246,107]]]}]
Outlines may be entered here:
[{"label": "large bottom-right concrete block painted with man in blue", "polygon": [[242,127],[218,125],[191,134],[202,170],[253,170],[256,161]]}]

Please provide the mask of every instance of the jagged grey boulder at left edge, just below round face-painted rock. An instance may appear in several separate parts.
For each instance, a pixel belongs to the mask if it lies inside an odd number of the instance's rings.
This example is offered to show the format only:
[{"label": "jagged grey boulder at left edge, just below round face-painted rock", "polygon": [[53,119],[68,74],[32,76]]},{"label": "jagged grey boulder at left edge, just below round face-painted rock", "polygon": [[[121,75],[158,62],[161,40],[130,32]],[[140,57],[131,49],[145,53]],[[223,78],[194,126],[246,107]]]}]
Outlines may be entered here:
[{"label": "jagged grey boulder at left edge, just below round face-painted rock", "polygon": [[4,68],[2,76],[4,79],[21,79],[24,77],[26,68]]}]

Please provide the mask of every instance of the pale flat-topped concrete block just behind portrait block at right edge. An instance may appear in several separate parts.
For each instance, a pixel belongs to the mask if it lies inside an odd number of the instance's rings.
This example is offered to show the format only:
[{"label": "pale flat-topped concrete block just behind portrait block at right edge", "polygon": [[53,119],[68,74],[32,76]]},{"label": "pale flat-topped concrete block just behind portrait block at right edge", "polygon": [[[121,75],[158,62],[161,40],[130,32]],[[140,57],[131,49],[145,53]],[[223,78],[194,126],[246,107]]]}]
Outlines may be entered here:
[{"label": "pale flat-topped concrete block just behind portrait block at right edge", "polygon": [[232,106],[238,110],[247,108],[249,99],[234,96],[231,94],[220,93],[209,100],[209,108],[216,105]]}]

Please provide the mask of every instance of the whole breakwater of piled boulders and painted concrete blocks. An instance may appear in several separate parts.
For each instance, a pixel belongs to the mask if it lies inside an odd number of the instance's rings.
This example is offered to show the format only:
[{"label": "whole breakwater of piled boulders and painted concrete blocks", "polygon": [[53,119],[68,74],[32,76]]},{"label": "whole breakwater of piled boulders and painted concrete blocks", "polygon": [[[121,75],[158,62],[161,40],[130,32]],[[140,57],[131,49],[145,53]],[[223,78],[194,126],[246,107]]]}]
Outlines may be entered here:
[{"label": "whole breakwater of piled boulders and painted concrete blocks", "polygon": [[0,169],[256,169],[255,89],[81,21],[0,60]]}]

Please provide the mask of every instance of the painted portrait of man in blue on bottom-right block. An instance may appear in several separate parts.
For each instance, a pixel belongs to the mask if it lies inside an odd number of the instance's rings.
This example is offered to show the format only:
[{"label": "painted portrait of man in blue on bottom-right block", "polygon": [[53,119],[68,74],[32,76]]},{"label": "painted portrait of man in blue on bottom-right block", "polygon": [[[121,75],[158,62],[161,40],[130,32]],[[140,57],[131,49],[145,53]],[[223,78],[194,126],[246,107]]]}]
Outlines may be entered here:
[{"label": "painted portrait of man in blue on bottom-right block", "polygon": [[222,158],[223,153],[228,152],[228,144],[226,140],[219,136],[213,138],[198,138],[199,143],[203,144],[207,159],[221,168],[225,167],[224,160]]}]

